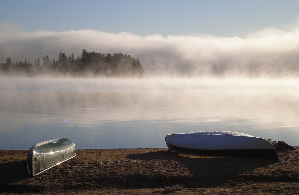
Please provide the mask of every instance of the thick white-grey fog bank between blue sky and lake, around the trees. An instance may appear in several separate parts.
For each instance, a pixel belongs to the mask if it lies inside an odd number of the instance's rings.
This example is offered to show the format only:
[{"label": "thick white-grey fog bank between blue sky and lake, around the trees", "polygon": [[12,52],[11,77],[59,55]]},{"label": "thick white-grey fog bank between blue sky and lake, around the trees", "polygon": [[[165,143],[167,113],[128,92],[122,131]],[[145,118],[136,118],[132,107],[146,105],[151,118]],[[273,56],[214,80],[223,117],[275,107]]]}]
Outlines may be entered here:
[{"label": "thick white-grey fog bank between blue sky and lake, around the trees", "polygon": [[298,76],[299,28],[289,31],[264,29],[244,38],[198,36],[138,36],[82,29],[64,32],[26,33],[19,24],[0,24],[0,62],[59,52],[81,55],[88,52],[126,53],[141,60],[145,75],[247,75]]}]

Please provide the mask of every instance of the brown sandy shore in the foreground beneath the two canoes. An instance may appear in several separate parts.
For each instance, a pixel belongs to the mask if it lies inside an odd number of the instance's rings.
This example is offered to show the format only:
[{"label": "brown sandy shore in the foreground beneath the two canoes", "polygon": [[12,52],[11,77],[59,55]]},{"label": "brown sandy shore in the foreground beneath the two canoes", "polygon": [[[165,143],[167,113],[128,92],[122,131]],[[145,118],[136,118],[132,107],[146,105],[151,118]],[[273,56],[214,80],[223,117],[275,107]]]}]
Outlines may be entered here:
[{"label": "brown sandy shore in the foreground beneath the two canoes", "polygon": [[27,153],[0,151],[0,194],[299,194],[299,151],[280,151],[274,162],[167,148],[76,150],[35,177]]}]

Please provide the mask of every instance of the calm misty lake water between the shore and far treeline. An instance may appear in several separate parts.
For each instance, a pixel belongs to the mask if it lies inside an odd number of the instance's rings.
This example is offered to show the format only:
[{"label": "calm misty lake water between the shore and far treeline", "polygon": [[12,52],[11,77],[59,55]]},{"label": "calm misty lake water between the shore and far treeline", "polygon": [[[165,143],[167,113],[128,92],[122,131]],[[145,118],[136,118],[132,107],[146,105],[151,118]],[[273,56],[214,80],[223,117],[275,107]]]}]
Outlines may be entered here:
[{"label": "calm misty lake water between the shore and far treeline", "polygon": [[299,146],[299,79],[2,77],[0,82],[0,150],[28,150],[64,136],[77,149],[166,148],[167,134],[204,130]]}]

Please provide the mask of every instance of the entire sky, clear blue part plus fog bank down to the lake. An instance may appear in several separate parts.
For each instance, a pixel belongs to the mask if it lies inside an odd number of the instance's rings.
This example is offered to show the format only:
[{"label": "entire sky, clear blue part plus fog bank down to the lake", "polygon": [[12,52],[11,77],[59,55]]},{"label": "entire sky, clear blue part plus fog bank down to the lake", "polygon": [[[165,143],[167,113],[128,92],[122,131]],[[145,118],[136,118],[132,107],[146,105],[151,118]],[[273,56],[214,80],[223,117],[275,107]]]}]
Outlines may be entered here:
[{"label": "entire sky, clear blue part plus fog bank down to the lake", "polygon": [[138,57],[147,72],[292,72],[298,8],[297,0],[0,0],[0,62],[84,48]]}]

